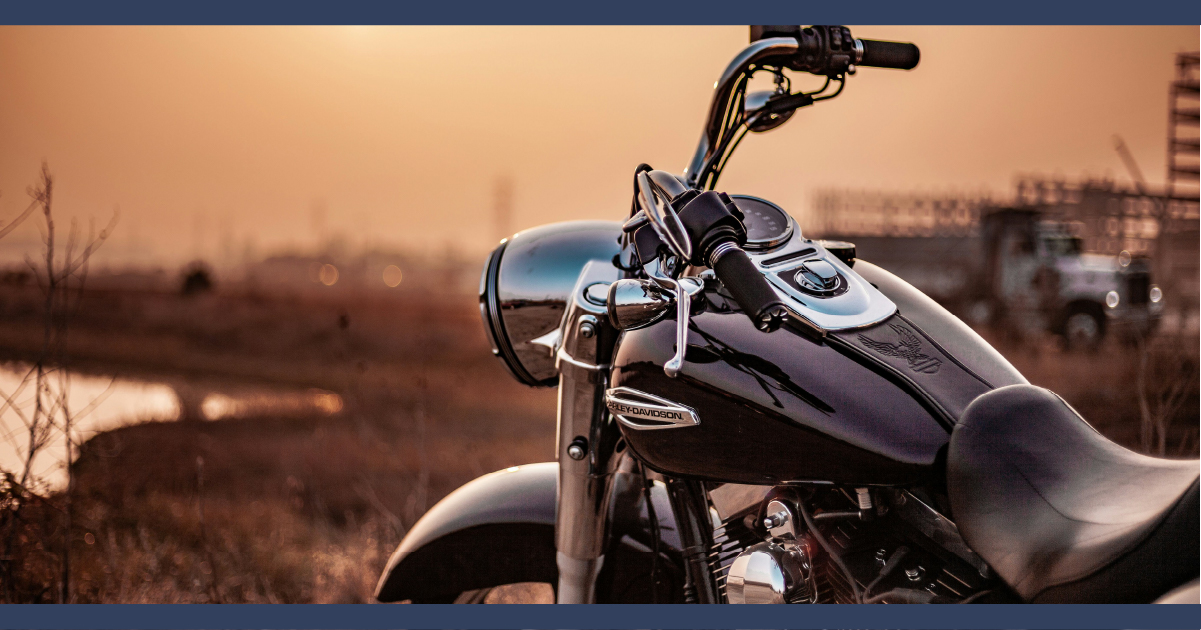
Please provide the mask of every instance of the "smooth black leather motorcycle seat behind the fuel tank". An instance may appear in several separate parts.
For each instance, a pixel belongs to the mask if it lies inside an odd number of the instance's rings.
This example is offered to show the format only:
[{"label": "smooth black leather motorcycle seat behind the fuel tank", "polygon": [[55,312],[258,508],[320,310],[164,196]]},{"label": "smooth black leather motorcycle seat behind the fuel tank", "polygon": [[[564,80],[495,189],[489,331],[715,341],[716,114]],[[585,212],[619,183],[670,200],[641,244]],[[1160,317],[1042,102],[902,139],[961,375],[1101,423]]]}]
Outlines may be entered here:
[{"label": "smooth black leather motorcycle seat behind the fuel tank", "polygon": [[1027,601],[1147,604],[1197,577],[1199,462],[1118,446],[1045,389],[973,401],[946,467],[960,533]]}]

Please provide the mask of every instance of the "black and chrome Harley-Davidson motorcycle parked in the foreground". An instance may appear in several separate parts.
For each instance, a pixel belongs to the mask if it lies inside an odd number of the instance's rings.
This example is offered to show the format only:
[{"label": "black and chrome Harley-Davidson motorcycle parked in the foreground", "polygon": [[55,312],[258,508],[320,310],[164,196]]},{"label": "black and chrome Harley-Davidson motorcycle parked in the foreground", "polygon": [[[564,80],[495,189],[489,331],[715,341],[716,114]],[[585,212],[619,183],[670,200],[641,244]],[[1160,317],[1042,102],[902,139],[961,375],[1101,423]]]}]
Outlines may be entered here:
[{"label": "black and chrome Harley-Davidson motorcycle parked in the foreground", "polygon": [[[546,582],[564,604],[1196,604],[1197,461],[1107,440],[854,245],[715,191],[748,131],[860,67],[910,70],[918,48],[844,26],[751,41],[682,175],[643,164],[623,223],[492,252],[484,326],[518,380],[558,388],[558,461],[442,499],[376,596]],[[793,91],[787,72],[825,85]],[[748,91],[757,73],[776,88]]]}]

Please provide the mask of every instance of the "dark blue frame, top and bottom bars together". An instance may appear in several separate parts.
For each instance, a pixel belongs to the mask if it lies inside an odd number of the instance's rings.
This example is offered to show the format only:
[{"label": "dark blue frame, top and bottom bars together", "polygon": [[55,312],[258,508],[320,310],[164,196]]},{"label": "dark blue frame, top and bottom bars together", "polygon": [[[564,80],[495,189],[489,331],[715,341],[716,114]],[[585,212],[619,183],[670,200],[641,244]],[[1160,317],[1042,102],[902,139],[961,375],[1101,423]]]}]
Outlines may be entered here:
[{"label": "dark blue frame, top and bottom bars together", "polygon": [[[0,24],[1201,24],[1196,0],[4,0]],[[0,629],[1179,629],[1197,606],[0,606]]]}]

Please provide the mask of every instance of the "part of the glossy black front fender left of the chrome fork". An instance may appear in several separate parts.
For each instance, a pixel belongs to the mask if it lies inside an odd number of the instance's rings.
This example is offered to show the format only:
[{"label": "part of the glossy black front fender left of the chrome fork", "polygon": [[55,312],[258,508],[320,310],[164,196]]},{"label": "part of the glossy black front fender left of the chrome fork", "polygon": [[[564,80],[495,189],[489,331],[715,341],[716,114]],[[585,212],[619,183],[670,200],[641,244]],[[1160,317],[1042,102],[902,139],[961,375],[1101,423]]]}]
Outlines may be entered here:
[{"label": "part of the glossy black front fender left of the chrome fork", "polygon": [[556,583],[558,464],[506,468],[430,508],[400,541],[376,587],[380,601],[452,601],[515,582]]}]

